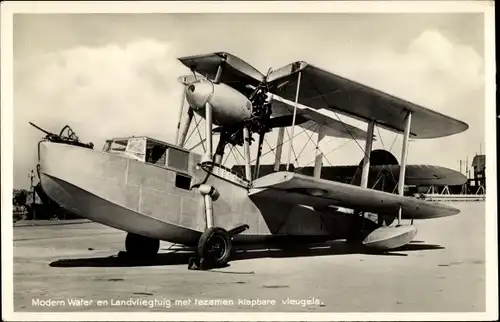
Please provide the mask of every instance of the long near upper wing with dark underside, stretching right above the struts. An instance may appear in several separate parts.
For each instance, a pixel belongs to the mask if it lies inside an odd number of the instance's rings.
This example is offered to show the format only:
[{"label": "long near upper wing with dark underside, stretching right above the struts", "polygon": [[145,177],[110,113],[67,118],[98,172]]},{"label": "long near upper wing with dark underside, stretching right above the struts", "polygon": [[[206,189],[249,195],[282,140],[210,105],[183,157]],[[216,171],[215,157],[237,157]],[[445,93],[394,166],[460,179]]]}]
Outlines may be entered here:
[{"label": "long near upper wing with dark underside, stretching right above the struts", "polygon": [[301,73],[299,103],[314,109],[336,110],[395,132],[404,131],[406,112],[412,112],[410,135],[437,138],[463,132],[462,121],[356,83],[306,62],[295,62],[272,72],[267,78],[274,92],[295,101],[298,73]]}]

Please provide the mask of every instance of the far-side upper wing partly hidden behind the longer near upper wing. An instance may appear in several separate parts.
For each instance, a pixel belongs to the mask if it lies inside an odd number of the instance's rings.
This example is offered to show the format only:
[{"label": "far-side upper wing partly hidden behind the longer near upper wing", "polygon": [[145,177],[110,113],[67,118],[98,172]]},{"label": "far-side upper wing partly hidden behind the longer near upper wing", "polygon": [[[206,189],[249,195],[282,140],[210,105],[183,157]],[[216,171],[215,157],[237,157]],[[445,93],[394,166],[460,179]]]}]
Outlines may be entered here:
[{"label": "far-side upper wing partly hidden behind the longer near upper wing", "polygon": [[[273,117],[293,115],[293,110],[295,108],[293,103],[287,103],[286,101],[281,100],[280,98],[277,98],[275,95],[273,95],[272,104]],[[304,129],[317,132],[318,126],[315,125],[324,125],[325,135],[327,136],[366,140],[366,131],[360,130],[352,125],[345,124],[341,121],[332,119],[331,117],[316,112],[309,107],[297,106],[297,115],[302,119],[302,123],[299,124],[299,122],[296,122],[296,125]]]}]

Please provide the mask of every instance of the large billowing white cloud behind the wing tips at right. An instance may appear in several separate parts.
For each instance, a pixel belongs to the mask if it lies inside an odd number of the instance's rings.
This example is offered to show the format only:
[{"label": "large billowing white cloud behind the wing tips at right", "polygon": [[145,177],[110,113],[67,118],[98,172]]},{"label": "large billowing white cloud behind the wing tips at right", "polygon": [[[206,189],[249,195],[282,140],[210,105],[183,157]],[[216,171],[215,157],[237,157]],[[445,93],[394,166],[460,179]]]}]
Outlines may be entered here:
[{"label": "large billowing white cloud behind the wing tips at right", "polygon": [[[484,62],[472,47],[453,43],[437,30],[425,30],[399,50],[344,47],[323,52],[335,53],[318,56],[319,64],[330,71],[469,124],[469,130],[459,135],[414,141],[409,163],[457,168],[459,158],[472,158],[479,143],[484,144]],[[384,142],[388,149],[394,134],[381,133],[382,140],[374,148],[382,148]],[[363,142],[360,145],[364,147]],[[447,149],[450,146],[453,151]],[[399,159],[400,137],[392,151]],[[334,158],[339,163],[353,163],[361,157],[361,149],[349,145]]]}]

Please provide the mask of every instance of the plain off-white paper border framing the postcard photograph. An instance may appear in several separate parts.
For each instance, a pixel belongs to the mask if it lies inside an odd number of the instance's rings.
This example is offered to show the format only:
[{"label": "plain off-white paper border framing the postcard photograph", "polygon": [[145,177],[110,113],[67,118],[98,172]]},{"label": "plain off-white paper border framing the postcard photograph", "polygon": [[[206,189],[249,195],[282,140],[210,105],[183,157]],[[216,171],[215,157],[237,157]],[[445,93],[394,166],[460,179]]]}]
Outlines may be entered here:
[{"label": "plain off-white paper border framing the postcard photograph", "polygon": [[[486,313],[14,313],[13,312],[13,14],[14,13],[258,13],[258,12],[482,12],[485,14],[486,75]],[[2,312],[3,320],[497,320],[498,250],[496,193],[496,97],[494,1],[262,1],[262,2],[85,2],[36,1],[1,3],[1,198],[2,198]],[[464,290],[466,291],[466,290]]]}]

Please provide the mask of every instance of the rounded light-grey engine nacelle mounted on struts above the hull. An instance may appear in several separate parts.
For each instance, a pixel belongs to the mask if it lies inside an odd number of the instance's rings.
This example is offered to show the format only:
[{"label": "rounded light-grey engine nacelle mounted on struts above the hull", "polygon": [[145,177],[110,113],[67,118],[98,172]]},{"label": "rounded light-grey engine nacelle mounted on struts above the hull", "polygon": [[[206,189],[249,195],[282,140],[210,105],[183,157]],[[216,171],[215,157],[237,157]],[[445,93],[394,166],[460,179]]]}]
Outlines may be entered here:
[{"label": "rounded light-grey engine nacelle mounted on struts above the hull", "polygon": [[252,103],[225,84],[202,79],[186,86],[186,100],[193,111],[205,118],[205,106],[212,106],[212,123],[223,126],[242,122],[252,114]]}]

